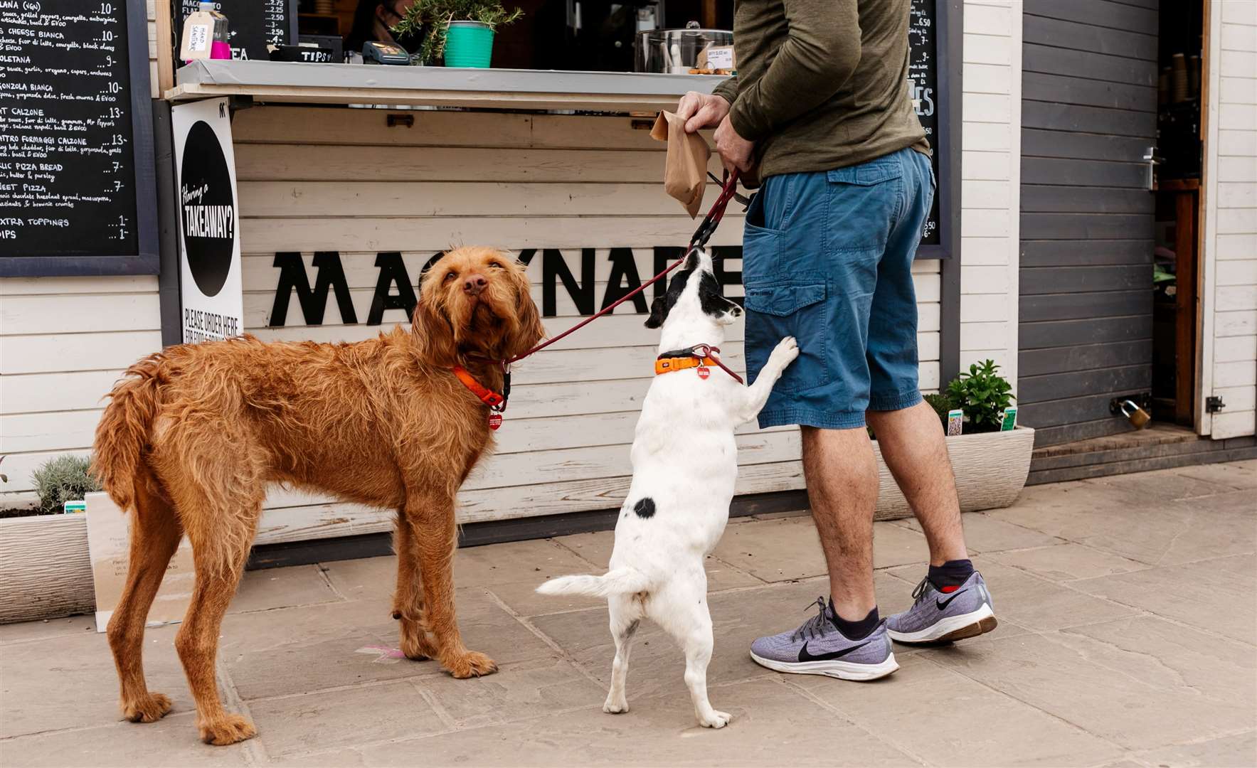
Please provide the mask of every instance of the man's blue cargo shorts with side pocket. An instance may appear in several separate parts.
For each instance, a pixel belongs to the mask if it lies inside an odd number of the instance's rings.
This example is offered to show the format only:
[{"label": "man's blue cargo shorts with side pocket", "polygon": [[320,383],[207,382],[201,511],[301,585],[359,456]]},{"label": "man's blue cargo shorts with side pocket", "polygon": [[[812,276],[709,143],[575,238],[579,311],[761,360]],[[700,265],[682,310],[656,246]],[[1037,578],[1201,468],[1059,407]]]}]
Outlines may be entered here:
[{"label": "man's blue cargo shorts with side pocket", "polygon": [[747,372],[798,339],[759,426],[857,429],[921,401],[913,258],[934,171],[911,148],[862,165],[769,176],[747,211]]}]

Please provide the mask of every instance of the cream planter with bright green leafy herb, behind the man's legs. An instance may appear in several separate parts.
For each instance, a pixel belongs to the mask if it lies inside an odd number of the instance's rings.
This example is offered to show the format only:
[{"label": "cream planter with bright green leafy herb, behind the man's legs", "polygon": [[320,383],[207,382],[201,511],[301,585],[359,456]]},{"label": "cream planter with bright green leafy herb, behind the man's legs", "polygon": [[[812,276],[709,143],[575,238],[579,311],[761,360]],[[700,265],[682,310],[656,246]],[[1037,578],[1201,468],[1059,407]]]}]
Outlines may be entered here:
[{"label": "cream planter with bright green leafy herb, behind the man's legs", "polygon": [[[1013,400],[1012,385],[991,359],[969,366],[968,372],[952,380],[941,392],[925,396],[944,431],[949,411],[958,409],[964,412],[962,434],[947,437],[962,512],[1008,507],[1026,485],[1035,450],[1035,430],[1023,426],[1002,430],[1004,409]],[[876,441],[874,450],[877,451]],[[882,475],[877,518],[910,515],[908,500],[881,463],[880,451],[877,458]]]}]

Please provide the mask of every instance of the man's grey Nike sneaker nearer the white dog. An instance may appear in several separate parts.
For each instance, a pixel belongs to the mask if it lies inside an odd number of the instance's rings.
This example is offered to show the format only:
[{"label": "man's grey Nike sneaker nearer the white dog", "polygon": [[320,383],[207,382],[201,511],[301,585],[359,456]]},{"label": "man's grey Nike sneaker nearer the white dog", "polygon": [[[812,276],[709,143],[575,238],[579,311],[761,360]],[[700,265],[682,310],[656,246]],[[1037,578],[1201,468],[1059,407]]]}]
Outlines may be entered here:
[{"label": "man's grey Nike sneaker nearer the white dog", "polygon": [[828,675],[842,680],[876,680],[899,669],[890,651],[886,622],[867,637],[847,640],[830,620],[823,597],[813,603],[820,610],[793,632],[769,635],[750,644],[755,664],[778,672]]}]

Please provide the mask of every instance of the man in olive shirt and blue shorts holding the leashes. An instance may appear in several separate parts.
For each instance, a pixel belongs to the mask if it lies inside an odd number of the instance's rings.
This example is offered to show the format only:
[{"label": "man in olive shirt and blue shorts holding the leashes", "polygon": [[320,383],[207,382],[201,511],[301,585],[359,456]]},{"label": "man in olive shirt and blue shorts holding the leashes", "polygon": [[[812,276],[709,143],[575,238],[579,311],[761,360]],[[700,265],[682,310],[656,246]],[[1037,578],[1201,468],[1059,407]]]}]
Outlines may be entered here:
[{"label": "man in olive shirt and blue shorts holding the leashes", "polygon": [[[757,662],[783,672],[872,680],[899,669],[890,639],[996,627],[943,430],[918,388],[911,265],[934,178],[908,93],[909,11],[910,0],[735,0],[738,77],[676,109],[689,132],[716,128],[727,167],[763,180],[743,236],[749,380],[783,336],[801,351],[759,426],[802,427],[830,600],[802,627],[752,644]],[[930,547],[915,603],[886,621],[874,595],[866,420]]]}]

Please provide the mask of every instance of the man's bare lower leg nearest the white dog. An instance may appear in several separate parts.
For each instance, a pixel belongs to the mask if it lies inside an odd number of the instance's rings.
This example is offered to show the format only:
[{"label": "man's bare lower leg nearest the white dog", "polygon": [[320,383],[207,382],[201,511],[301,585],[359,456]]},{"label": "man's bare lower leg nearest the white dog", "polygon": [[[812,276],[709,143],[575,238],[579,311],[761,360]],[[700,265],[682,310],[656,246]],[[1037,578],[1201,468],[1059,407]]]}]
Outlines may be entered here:
[{"label": "man's bare lower leg nearest the white dog", "polygon": [[877,463],[866,430],[802,427],[803,476],[830,569],[833,611],[860,621],[877,605],[872,587],[872,513]]}]

